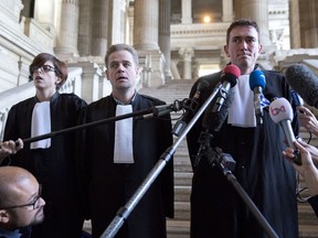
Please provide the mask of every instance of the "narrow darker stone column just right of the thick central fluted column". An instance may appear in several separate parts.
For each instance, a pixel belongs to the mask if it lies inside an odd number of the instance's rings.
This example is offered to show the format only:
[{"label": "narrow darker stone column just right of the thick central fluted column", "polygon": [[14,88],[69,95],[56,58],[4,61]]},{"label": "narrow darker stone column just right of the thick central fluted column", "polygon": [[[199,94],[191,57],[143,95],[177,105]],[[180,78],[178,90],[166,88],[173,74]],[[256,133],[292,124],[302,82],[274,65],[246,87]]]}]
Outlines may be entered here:
[{"label": "narrow darker stone column just right of the thick central fluted column", "polygon": [[170,12],[171,0],[159,0],[159,46],[165,56],[165,79],[171,79],[170,62]]}]

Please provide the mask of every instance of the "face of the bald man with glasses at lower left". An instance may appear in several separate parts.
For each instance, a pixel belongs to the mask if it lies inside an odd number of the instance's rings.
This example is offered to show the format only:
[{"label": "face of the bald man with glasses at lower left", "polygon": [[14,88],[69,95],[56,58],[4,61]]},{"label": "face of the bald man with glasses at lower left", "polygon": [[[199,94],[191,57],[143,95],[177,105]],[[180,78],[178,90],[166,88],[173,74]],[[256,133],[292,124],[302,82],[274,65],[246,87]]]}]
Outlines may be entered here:
[{"label": "face of the bald man with glasses at lower left", "polygon": [[9,214],[8,226],[20,228],[43,221],[45,202],[41,197],[41,186],[35,180],[22,181],[14,190],[12,198],[14,201],[12,206],[30,205],[7,209]]}]

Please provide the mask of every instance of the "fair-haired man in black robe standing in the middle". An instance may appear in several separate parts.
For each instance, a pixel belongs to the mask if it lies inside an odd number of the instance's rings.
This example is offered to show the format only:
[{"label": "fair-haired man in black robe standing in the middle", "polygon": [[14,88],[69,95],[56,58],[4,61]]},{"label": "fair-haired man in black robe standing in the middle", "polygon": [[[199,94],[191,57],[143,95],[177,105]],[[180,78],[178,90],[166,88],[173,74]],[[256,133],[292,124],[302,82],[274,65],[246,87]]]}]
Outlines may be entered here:
[{"label": "fair-haired man in black robe standing in the middle", "polygon": [[[105,63],[112,95],[88,105],[83,111],[83,122],[114,118],[118,108],[139,111],[165,102],[139,95],[136,83],[139,74],[138,55],[125,44],[110,46]],[[127,120],[127,119],[125,119]],[[88,178],[88,214],[93,237],[99,237],[141,185],[160,155],[172,144],[170,116],[149,119],[134,118],[126,129],[115,132],[118,125],[108,122],[84,132],[84,166]],[[120,134],[126,144],[115,152]],[[124,140],[124,139],[123,139]],[[120,154],[120,156],[118,156]],[[84,181],[85,183],[85,181]],[[151,184],[132,209],[116,237],[165,238],[166,217],[173,217],[173,162],[169,161],[162,173]]]}]

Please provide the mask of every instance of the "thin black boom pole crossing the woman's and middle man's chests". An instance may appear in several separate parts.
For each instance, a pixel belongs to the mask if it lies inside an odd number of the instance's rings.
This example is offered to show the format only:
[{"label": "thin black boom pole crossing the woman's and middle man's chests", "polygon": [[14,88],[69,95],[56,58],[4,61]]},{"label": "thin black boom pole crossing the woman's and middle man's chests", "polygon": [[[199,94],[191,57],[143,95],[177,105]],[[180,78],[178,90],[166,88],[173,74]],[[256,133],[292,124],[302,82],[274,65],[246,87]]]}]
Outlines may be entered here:
[{"label": "thin black boom pole crossing the woman's and middle man's chests", "polygon": [[72,132],[75,130],[85,129],[85,128],[94,127],[94,126],[99,126],[103,123],[113,122],[113,121],[117,121],[117,120],[123,120],[123,119],[130,118],[130,117],[140,116],[140,118],[145,118],[145,119],[153,117],[153,116],[155,117],[161,117],[163,115],[170,113],[171,111],[181,110],[183,108],[183,106],[182,106],[183,101],[180,102],[179,100],[174,100],[173,104],[171,104],[171,105],[160,105],[160,106],[151,107],[151,108],[144,109],[144,110],[132,111],[131,113],[126,113],[126,115],[120,115],[117,117],[106,118],[103,120],[93,121],[89,123],[62,129],[59,131],[52,131],[50,133],[40,134],[40,136],[33,137],[33,138],[23,139],[22,141],[23,141],[23,143],[31,143],[34,141],[52,138],[52,137],[63,134],[66,132]]}]

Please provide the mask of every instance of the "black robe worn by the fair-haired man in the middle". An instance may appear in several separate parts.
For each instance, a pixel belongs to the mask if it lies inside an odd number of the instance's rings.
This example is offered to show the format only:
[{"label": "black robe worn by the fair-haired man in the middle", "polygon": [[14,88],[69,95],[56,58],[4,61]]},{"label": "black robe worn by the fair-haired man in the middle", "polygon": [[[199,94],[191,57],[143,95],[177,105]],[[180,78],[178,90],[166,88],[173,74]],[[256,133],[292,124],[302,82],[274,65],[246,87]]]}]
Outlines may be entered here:
[{"label": "black robe worn by the fair-haired man in the middle", "polygon": [[[139,111],[163,101],[137,94],[132,110]],[[115,117],[116,102],[112,96],[91,104],[83,116],[85,122]],[[119,207],[140,186],[160,155],[172,144],[170,115],[136,119],[132,126],[134,164],[114,163],[115,122],[85,131],[84,160],[88,172],[88,210],[93,237],[99,237],[115,218]],[[173,217],[172,158],[145,196],[137,204],[116,237],[166,237],[166,216]]]}]

